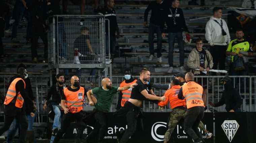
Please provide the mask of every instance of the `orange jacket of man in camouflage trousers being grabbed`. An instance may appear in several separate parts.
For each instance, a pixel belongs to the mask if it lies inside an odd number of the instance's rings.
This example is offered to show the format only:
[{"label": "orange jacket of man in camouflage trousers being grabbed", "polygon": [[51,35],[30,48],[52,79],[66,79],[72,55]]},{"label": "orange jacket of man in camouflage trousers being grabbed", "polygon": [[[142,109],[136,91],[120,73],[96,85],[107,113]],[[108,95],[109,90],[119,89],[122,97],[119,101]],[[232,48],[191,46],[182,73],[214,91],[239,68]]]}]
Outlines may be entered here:
[{"label": "orange jacket of man in camouflage trousers being grabbed", "polygon": [[178,107],[178,106],[186,107],[185,99],[181,100],[181,99],[178,98],[180,88],[181,88],[180,85],[174,85],[174,86],[171,87],[171,89],[166,90],[165,93],[164,93],[164,96],[166,97],[166,100],[158,102],[158,105],[159,106],[165,106],[165,105],[167,105],[167,103],[169,101],[171,109],[173,109],[175,107]]}]

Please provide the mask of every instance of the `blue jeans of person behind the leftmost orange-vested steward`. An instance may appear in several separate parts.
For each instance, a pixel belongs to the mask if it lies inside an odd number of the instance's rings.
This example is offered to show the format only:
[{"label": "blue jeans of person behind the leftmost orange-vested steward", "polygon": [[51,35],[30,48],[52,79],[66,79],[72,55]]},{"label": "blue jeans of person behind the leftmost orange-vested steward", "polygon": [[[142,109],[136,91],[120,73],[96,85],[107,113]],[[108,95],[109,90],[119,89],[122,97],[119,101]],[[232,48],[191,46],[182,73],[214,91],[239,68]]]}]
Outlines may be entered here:
[{"label": "blue jeans of person behind the leftmost orange-vested steward", "polygon": [[[32,131],[35,116],[31,117],[30,115],[26,115],[26,117],[27,117],[27,121],[28,121],[28,131]],[[7,143],[12,143],[12,139],[14,138],[14,136],[17,132],[17,129],[19,129],[19,131],[20,131],[21,125],[19,124],[19,122],[17,122],[16,119],[14,119],[11,123],[10,128],[8,129],[8,134],[7,134],[7,138],[6,138]]]}]

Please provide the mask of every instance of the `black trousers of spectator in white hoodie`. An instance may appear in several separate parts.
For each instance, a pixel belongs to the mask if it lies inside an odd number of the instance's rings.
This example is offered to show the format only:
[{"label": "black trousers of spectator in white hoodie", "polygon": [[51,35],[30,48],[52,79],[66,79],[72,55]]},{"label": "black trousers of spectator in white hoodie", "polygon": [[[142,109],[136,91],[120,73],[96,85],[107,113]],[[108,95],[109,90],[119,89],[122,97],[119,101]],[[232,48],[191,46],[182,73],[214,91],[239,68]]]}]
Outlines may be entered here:
[{"label": "black trousers of spectator in white hoodie", "polygon": [[[220,70],[225,70],[225,62],[226,62],[226,50],[227,46],[214,45],[210,48],[211,54],[213,56],[213,69],[217,70],[219,65]],[[212,73],[216,75],[215,72]],[[225,74],[221,74],[225,75]]]}]

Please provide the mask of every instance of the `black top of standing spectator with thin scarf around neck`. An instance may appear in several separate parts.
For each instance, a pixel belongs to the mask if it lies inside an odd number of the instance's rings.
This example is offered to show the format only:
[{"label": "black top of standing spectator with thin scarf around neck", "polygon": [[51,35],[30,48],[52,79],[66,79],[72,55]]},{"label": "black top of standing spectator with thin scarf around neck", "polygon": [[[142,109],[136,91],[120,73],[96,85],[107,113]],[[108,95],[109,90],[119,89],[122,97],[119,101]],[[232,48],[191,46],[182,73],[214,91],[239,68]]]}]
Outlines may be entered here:
[{"label": "black top of standing spectator with thin scarf around neck", "polygon": [[[175,15],[176,8],[169,6],[166,8],[164,21],[167,24],[168,32],[176,33],[176,32],[188,32],[188,27],[186,25],[186,21],[184,18],[184,14],[181,8],[177,8],[177,13]],[[171,14],[172,12],[172,14]],[[175,15],[176,24],[173,22],[173,15]]]}]

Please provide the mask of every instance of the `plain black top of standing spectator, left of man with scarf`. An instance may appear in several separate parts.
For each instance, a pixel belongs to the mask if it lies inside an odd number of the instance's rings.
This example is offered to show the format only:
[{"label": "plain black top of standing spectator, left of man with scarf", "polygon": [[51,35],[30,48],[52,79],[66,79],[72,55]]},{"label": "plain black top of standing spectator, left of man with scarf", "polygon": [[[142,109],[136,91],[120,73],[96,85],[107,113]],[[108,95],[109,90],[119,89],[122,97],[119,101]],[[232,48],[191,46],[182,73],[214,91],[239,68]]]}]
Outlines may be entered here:
[{"label": "plain black top of standing spectator, left of man with scarf", "polygon": [[165,6],[164,2],[162,2],[161,4],[156,3],[156,1],[151,2],[144,12],[144,21],[148,21],[148,14],[151,10],[150,23],[161,26],[161,28],[163,28],[164,18],[162,17],[162,15],[164,15],[166,8],[167,7]]}]

